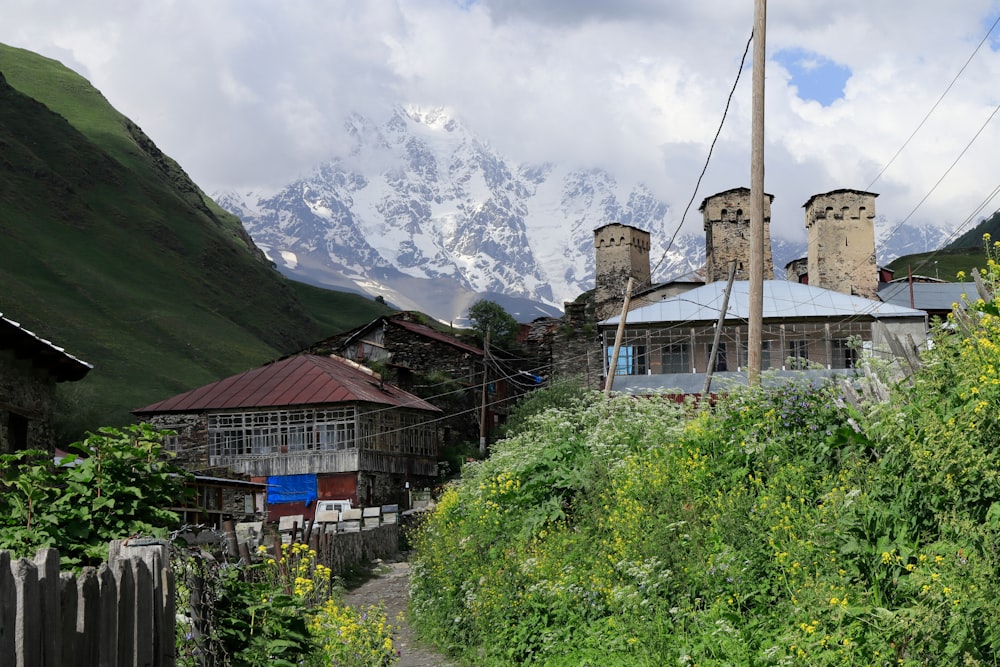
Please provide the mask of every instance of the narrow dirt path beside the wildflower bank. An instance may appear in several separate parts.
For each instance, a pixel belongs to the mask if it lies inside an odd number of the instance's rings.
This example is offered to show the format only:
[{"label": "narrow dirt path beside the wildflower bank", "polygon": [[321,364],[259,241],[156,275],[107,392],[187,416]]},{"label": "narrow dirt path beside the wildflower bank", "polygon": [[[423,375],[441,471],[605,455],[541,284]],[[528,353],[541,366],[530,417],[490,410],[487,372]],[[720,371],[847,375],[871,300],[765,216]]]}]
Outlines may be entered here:
[{"label": "narrow dirt path beside the wildflower bank", "polygon": [[398,561],[376,565],[371,578],[348,591],[344,602],[352,607],[382,603],[389,623],[396,628],[392,640],[399,650],[398,667],[457,667],[457,663],[417,640],[406,621],[409,595],[410,564],[401,557]]}]

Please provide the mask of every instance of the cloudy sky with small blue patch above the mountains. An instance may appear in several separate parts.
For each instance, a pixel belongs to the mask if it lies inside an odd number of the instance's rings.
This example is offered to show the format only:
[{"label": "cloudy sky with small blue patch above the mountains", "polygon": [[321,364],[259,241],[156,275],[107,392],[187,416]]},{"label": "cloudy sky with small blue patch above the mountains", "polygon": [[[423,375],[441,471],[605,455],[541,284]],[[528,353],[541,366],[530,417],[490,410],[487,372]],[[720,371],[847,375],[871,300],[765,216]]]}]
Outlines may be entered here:
[{"label": "cloudy sky with small blue patch above the mountains", "polygon": [[[804,238],[802,205],[836,188],[880,193],[887,227],[1000,207],[998,16],[1000,0],[772,0],[772,233]],[[753,0],[6,0],[0,42],[87,77],[210,193],[308,172],[348,113],[445,106],[512,161],[645,182],[677,222],[695,197],[697,231],[705,196],[749,185],[748,57],[695,190],[752,26]]]}]

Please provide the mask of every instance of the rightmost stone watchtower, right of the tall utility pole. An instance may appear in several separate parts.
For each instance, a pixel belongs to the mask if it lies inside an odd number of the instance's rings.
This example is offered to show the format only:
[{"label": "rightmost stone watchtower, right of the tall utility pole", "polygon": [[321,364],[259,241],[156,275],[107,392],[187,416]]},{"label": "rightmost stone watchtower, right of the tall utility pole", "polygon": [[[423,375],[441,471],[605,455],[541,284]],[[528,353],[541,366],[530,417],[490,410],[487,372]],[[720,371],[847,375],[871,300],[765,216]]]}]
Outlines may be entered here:
[{"label": "rightmost stone watchtower, right of the tall utility pole", "polygon": [[810,285],[875,298],[875,197],[862,190],[833,190],[805,203]]}]

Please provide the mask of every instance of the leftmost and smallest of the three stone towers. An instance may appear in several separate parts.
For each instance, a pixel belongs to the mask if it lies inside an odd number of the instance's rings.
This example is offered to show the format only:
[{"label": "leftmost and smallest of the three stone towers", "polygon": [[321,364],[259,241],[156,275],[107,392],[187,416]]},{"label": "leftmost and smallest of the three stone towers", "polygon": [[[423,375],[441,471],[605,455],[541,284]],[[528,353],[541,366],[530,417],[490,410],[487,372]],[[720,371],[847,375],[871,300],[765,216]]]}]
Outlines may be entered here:
[{"label": "leftmost and smallest of the three stone towers", "polygon": [[597,319],[620,315],[628,279],[634,288],[649,285],[649,232],[611,223],[594,230]]}]

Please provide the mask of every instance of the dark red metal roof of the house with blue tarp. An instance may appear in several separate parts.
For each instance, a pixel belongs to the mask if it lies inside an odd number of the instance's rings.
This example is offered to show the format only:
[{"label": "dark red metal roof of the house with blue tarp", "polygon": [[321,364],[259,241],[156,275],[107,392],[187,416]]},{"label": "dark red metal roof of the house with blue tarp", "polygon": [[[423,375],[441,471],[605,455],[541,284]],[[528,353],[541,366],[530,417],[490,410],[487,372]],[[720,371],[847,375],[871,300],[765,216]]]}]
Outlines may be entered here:
[{"label": "dark red metal roof of the house with blue tarp", "polygon": [[440,412],[413,394],[380,383],[370,371],[346,359],[303,354],[192,389],[132,413],[144,415],[345,402],[378,403]]}]

